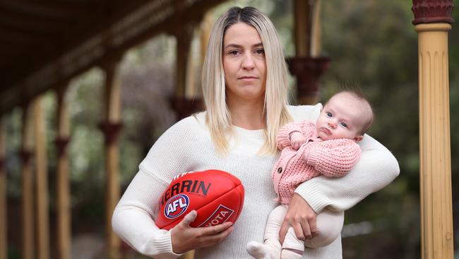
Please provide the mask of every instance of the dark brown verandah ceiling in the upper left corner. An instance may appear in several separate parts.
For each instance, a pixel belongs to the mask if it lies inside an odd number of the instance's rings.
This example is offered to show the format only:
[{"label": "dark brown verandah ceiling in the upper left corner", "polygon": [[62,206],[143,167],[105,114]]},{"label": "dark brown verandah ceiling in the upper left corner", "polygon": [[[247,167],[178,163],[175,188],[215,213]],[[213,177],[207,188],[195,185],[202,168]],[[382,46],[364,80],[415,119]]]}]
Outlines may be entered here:
[{"label": "dark brown verandah ceiling in the upper left corner", "polygon": [[0,115],[225,0],[0,0]]}]

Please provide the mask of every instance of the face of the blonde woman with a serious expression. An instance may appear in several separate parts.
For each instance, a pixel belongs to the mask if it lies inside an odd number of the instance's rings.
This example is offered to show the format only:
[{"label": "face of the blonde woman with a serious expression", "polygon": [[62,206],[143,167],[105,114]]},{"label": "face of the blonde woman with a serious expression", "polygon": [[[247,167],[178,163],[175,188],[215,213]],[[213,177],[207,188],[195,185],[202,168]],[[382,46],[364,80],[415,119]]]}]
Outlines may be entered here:
[{"label": "face of the blonde woman with a serious expression", "polygon": [[227,28],[222,54],[227,100],[233,103],[263,101],[266,59],[256,29],[246,23]]}]

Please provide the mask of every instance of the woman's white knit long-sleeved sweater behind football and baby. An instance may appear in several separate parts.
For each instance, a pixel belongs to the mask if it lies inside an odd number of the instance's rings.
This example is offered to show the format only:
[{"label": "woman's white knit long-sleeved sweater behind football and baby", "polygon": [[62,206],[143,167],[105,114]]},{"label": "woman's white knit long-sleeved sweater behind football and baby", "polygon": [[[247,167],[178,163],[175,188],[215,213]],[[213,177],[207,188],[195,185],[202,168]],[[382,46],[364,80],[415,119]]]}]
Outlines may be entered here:
[{"label": "woman's white knit long-sleeved sweater behind football and baby", "polygon": [[[295,121],[316,121],[322,105],[292,106]],[[155,142],[139,166],[139,171],[114,210],[114,231],[132,248],[153,258],[177,258],[172,252],[169,231],[155,226],[160,195],[175,175],[186,171],[220,169],[237,176],[245,189],[244,208],[234,231],[215,246],[198,249],[195,258],[251,258],[249,241],[263,242],[268,214],[275,207],[276,195],[270,171],[278,156],[258,156],[265,141],[263,130],[236,128],[231,151],[217,156],[205,126],[205,113],[187,117],[169,128]],[[316,212],[327,207],[345,210],[391,183],[398,175],[398,163],[388,149],[369,136],[360,142],[362,159],[342,178],[319,176],[300,185],[302,195]],[[308,249],[305,258],[342,258],[341,238],[324,248]]]}]

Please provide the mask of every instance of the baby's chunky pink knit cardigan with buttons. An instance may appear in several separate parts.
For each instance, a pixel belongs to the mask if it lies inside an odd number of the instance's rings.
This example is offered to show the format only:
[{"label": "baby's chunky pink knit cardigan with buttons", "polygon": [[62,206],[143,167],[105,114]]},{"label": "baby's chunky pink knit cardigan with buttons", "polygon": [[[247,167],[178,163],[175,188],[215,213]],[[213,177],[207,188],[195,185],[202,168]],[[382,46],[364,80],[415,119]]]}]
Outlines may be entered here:
[{"label": "baby's chunky pink knit cardigan with buttons", "polygon": [[[306,137],[306,143],[298,150],[290,146],[290,133],[295,131]],[[295,188],[306,180],[321,174],[328,177],[346,175],[362,154],[360,146],[352,139],[323,141],[317,137],[314,123],[307,121],[284,125],[278,133],[278,149],[282,151],[271,176],[277,201],[282,204],[289,204]]]}]

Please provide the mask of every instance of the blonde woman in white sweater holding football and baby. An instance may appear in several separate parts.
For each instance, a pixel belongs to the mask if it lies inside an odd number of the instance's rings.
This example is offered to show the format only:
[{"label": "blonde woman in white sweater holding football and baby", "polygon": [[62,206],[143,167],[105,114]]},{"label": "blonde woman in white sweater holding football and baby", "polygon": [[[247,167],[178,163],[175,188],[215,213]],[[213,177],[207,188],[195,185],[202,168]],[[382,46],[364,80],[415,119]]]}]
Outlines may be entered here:
[{"label": "blonde woman in white sweater holding football and baby", "polygon": [[[275,137],[292,120],[315,121],[321,105],[287,105],[284,56],[275,28],[255,8],[230,8],[210,35],[203,67],[206,111],[169,128],[139,166],[114,211],[114,231],[131,247],[154,258],[250,258],[245,246],[263,241],[275,207],[270,169],[278,158]],[[365,137],[362,159],[340,179],[314,178],[300,185],[280,230],[298,238],[316,235],[316,212],[342,211],[398,175],[398,164],[376,140]],[[234,224],[191,228],[196,212],[170,231],[155,226],[157,201],[175,175],[215,168],[237,176],[245,188],[244,209]],[[307,201],[307,202],[306,202]],[[309,206],[310,205],[310,206]],[[306,249],[306,258],[340,258],[341,238]]]}]

